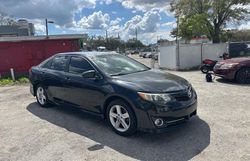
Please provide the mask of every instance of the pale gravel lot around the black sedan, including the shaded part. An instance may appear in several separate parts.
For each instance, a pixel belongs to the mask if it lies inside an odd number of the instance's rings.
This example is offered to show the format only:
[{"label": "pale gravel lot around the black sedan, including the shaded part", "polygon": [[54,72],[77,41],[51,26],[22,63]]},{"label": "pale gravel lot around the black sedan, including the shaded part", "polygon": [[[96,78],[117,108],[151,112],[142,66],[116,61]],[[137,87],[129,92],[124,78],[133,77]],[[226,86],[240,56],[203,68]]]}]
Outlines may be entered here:
[{"label": "pale gravel lot around the black sedan, including the shaded part", "polygon": [[0,161],[249,161],[250,86],[206,83],[198,71],[169,72],[196,89],[198,117],[174,131],[128,138],[78,110],[40,108],[28,86],[0,87]]}]

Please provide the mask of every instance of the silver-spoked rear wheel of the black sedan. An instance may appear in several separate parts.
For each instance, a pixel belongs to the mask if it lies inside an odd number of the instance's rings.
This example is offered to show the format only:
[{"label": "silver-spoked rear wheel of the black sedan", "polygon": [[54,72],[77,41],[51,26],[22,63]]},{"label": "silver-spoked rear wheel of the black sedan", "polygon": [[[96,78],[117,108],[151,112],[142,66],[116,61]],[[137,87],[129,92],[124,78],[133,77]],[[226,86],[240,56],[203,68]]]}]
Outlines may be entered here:
[{"label": "silver-spoked rear wheel of the black sedan", "polygon": [[48,107],[50,105],[46,90],[42,85],[36,87],[36,100],[41,107]]}]

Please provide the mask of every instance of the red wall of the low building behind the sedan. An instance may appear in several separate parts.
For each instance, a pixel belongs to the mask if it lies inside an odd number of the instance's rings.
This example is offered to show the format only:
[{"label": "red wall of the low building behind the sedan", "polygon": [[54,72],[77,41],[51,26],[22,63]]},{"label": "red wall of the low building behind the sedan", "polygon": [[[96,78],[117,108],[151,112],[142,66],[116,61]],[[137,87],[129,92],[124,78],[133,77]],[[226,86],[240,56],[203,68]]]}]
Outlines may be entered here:
[{"label": "red wall of the low building behind the sedan", "polygon": [[0,42],[0,74],[26,73],[31,66],[60,52],[79,51],[76,39]]}]

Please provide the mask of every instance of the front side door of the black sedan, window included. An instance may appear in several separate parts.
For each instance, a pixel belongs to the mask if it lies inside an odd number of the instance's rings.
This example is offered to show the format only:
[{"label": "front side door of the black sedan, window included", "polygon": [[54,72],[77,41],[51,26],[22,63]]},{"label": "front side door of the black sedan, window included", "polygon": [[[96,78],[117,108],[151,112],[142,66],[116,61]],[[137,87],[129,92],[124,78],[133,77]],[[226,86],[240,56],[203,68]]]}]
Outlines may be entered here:
[{"label": "front side door of the black sedan, window included", "polygon": [[71,57],[65,82],[66,101],[85,110],[100,113],[105,95],[103,90],[105,81],[82,76],[84,72],[91,70],[95,68],[85,58]]}]

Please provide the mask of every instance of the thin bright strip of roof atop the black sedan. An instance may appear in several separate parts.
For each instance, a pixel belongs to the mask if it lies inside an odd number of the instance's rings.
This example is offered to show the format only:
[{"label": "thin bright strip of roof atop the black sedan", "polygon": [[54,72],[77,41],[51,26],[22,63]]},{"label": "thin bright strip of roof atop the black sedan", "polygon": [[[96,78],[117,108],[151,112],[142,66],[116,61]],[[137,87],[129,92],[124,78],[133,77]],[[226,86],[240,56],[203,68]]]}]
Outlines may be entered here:
[{"label": "thin bright strip of roof atop the black sedan", "polygon": [[65,53],[58,53],[56,56],[59,55],[80,55],[80,56],[85,56],[85,57],[93,57],[93,56],[98,56],[98,55],[109,55],[109,54],[118,54],[115,51],[80,51],[80,52],[65,52]]}]

